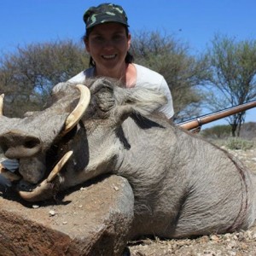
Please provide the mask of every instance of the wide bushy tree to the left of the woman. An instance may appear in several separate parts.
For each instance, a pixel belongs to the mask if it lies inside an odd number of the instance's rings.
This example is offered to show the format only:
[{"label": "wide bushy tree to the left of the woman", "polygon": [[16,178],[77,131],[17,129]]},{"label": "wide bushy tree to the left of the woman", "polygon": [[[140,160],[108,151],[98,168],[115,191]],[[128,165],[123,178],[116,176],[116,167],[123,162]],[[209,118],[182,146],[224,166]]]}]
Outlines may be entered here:
[{"label": "wide bushy tree to the left of the woman", "polygon": [[28,44],[0,59],[4,113],[21,116],[44,106],[52,87],[79,73],[89,62],[84,47],[72,41]]}]

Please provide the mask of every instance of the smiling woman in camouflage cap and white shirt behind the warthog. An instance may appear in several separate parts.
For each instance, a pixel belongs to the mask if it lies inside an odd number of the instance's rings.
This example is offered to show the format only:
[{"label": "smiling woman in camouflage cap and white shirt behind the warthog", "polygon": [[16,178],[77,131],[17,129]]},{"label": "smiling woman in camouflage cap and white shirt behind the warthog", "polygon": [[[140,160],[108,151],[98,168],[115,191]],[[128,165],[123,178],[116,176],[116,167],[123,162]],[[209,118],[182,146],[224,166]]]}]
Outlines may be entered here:
[{"label": "smiling woman in camouflage cap and white shirt behind the warthog", "polygon": [[107,76],[119,79],[127,88],[143,86],[159,90],[167,103],[160,108],[168,119],[172,118],[172,95],[166,80],[159,73],[133,63],[129,53],[131,34],[124,9],[116,4],[102,3],[84,13],[85,48],[90,54],[90,68],[69,80],[83,83],[84,79]]}]

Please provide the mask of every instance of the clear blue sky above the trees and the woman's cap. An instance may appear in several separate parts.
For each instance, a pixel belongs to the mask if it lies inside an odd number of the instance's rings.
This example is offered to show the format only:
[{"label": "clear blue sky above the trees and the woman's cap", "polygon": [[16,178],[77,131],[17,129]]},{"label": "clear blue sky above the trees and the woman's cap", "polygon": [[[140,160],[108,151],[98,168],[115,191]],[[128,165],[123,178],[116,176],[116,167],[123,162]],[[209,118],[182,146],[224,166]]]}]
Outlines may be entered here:
[{"label": "clear blue sky above the trees and the woman's cap", "polygon": [[[109,1],[107,1],[109,2]],[[0,0],[0,55],[17,45],[71,38],[84,34],[85,9],[97,0]],[[188,43],[200,54],[215,33],[238,40],[256,39],[255,0],[116,0],[123,6],[132,32],[160,30]],[[247,121],[256,111],[247,111]]]}]

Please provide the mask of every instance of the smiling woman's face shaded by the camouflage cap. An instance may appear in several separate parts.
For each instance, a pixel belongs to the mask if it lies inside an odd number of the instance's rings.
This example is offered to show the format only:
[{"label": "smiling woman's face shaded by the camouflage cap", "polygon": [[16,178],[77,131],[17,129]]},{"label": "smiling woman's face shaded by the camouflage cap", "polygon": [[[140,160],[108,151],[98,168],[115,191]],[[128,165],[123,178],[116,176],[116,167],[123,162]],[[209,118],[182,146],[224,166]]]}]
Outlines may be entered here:
[{"label": "smiling woman's face shaded by the camouflage cap", "polygon": [[115,22],[95,26],[85,40],[97,71],[105,72],[123,67],[130,45],[131,35],[127,37],[125,27]]}]

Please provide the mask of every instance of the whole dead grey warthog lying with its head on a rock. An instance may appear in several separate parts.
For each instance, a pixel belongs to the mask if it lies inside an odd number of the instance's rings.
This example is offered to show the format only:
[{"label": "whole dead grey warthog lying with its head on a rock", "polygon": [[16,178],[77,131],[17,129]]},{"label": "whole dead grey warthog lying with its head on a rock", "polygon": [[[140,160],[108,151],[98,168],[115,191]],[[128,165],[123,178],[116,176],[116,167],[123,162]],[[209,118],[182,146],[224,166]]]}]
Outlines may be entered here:
[{"label": "whole dead grey warthog lying with its head on a rock", "polygon": [[3,152],[20,160],[26,187],[33,185],[27,191],[16,185],[23,199],[42,201],[113,173],[133,189],[133,237],[198,236],[253,224],[254,174],[223,149],[170,124],[157,112],[165,96],[104,78],[87,83],[58,84],[49,107],[24,119],[1,116]]}]

